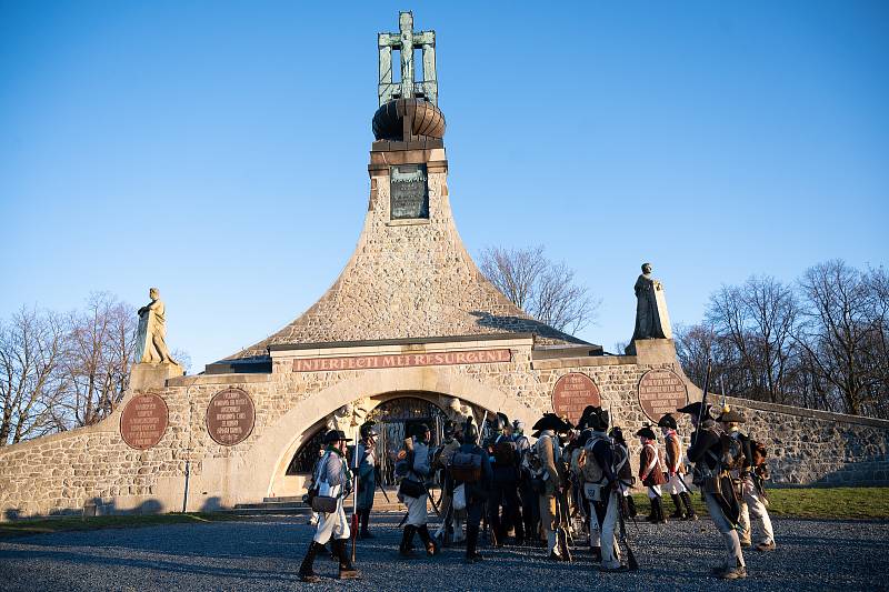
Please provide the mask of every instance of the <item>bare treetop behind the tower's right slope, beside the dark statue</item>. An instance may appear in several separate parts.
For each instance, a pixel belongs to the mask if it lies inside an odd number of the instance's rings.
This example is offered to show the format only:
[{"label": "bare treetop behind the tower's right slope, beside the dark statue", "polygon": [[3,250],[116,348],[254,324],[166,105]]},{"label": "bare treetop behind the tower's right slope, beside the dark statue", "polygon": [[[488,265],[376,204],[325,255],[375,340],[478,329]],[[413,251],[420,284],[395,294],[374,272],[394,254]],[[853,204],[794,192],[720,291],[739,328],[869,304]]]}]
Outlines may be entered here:
[{"label": "bare treetop behind the tower's right slope, beside the dark statue", "polygon": [[485,277],[538,321],[568,333],[595,322],[600,301],[575,283],[575,271],[565,262],[549,260],[543,247],[489,247],[479,261]]}]

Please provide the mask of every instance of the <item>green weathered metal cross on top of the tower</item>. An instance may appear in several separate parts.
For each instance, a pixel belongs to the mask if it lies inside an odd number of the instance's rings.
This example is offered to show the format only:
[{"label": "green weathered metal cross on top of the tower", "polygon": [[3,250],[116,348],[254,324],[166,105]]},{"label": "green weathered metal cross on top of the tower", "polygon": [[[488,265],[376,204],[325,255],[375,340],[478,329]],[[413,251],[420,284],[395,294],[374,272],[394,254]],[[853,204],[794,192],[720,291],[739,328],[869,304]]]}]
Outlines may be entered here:
[{"label": "green weathered metal cross on top of the tower", "polygon": [[[438,81],[436,80],[436,32],[413,32],[413,12],[398,13],[398,33],[379,33],[380,84],[378,94],[380,106],[392,99],[424,98],[438,104]],[[401,81],[392,82],[392,50],[401,54]],[[416,82],[413,50],[423,50],[423,80]]]}]

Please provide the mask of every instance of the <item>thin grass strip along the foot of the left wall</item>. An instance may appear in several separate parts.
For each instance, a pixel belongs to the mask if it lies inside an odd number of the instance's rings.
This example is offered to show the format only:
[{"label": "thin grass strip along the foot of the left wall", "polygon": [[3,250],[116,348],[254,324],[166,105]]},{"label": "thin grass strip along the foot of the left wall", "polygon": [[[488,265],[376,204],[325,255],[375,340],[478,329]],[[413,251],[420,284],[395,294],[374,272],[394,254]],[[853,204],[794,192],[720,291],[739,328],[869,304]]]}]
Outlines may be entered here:
[{"label": "thin grass strip along the foot of the left wall", "polygon": [[0,522],[0,539],[27,536],[47,532],[86,531],[99,529],[132,529],[163,524],[226,522],[240,516],[226,513],[172,513],[156,515],[58,516]]}]

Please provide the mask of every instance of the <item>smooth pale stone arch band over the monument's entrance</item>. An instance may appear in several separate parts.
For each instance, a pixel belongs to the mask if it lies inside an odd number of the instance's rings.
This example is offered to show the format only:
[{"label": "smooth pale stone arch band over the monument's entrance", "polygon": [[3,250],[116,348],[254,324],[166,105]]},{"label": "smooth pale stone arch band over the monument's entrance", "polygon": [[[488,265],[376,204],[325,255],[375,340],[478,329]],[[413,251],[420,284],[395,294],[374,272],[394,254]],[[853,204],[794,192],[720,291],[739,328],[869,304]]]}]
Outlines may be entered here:
[{"label": "smooth pale stone arch band over the monument's entrance", "polygon": [[280,475],[293,453],[334,410],[360,398],[384,400],[399,392],[429,397],[457,397],[490,411],[502,411],[513,419],[533,422],[538,411],[506,392],[459,373],[451,368],[403,368],[369,370],[297,402],[278,422],[266,430],[239,466],[229,473],[223,504],[249,503],[277,494]]}]

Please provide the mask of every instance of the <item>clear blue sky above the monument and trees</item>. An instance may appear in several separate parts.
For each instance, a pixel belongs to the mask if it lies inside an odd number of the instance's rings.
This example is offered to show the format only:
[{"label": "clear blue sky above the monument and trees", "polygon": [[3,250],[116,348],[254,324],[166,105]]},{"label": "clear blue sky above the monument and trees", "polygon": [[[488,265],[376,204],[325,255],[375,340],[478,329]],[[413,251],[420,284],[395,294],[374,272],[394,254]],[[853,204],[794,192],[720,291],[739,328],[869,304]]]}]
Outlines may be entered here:
[{"label": "clear blue sky above the monument and trees", "polygon": [[889,2],[0,0],[0,318],[149,285],[192,371],[311,305],[368,198],[376,33],[438,33],[471,253],[542,243],[632,333],[889,254]]}]

